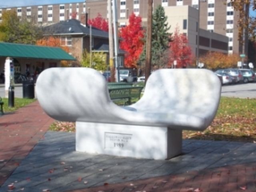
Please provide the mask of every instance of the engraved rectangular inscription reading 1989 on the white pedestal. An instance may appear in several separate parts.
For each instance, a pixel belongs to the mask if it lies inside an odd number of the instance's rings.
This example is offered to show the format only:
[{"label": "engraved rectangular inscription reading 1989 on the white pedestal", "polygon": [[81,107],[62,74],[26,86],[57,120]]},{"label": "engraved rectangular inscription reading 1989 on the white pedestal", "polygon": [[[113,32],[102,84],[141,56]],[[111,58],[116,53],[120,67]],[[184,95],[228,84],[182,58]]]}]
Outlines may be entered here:
[{"label": "engraved rectangular inscription reading 1989 on the white pedestal", "polygon": [[132,134],[105,132],[105,149],[131,150]]}]

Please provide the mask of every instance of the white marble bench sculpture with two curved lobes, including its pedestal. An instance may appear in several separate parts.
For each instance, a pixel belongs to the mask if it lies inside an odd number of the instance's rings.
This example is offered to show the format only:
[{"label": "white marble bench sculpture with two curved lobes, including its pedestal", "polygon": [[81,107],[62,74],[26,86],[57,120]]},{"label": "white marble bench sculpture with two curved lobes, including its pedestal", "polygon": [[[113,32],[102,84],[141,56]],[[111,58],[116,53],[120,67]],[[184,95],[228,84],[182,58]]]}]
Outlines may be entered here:
[{"label": "white marble bench sculpture with two curved lobes, including its pedestal", "polygon": [[107,82],[90,68],[50,68],[36,82],[44,111],[76,122],[80,152],[167,159],[182,150],[182,130],[204,130],[218,109],[221,84],[205,69],[161,69],[130,106],[110,100]]}]

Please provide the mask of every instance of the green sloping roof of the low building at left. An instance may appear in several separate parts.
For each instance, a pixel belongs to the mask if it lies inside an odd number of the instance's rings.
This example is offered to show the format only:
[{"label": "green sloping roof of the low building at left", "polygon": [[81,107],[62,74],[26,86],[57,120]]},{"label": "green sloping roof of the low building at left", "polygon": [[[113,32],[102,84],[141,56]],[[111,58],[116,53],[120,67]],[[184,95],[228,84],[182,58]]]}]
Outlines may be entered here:
[{"label": "green sloping roof of the low building at left", "polygon": [[76,60],[62,48],[0,42],[0,57]]}]

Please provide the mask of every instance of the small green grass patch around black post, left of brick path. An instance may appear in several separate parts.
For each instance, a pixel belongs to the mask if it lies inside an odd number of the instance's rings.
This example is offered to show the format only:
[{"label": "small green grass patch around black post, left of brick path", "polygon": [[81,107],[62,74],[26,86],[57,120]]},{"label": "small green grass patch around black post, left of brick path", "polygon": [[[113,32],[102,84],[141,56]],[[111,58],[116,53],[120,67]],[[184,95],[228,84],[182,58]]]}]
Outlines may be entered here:
[{"label": "small green grass patch around black post, left of brick path", "polygon": [[34,102],[35,100],[36,99],[14,98],[14,107],[8,107],[8,98],[2,98],[2,101],[4,102],[4,105],[3,105],[4,112],[15,111],[20,107],[24,107]]}]

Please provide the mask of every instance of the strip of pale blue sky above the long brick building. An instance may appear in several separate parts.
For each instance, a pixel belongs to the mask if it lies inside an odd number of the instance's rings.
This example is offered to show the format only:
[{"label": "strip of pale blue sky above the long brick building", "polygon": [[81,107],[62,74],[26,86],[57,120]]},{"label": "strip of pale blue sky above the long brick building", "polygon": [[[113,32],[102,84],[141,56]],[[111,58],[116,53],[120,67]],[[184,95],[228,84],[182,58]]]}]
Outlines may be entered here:
[{"label": "strip of pale blue sky above the long brick building", "polygon": [[84,0],[0,0],[0,8],[18,7],[18,6],[32,6],[44,4],[59,4],[59,3],[73,3],[84,2]]}]

